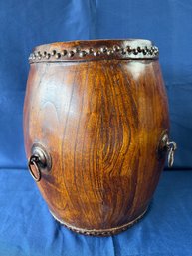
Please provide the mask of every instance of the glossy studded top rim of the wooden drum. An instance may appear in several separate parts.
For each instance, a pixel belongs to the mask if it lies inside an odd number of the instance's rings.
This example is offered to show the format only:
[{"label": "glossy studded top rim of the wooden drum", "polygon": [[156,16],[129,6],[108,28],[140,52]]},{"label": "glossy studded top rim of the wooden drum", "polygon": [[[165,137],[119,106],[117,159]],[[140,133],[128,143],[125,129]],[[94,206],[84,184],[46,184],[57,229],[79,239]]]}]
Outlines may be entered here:
[{"label": "glossy studded top rim of the wooden drum", "polygon": [[74,41],[36,47],[29,56],[29,62],[157,59],[158,54],[158,47],[148,40]]}]

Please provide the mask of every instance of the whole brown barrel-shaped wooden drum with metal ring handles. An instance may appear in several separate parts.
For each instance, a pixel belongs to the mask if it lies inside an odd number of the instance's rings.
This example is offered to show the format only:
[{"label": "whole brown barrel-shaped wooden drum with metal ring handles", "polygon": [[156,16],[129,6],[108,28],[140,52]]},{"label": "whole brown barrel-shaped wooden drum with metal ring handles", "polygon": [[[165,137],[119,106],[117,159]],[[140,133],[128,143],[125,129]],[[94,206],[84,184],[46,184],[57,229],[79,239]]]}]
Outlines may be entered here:
[{"label": "whole brown barrel-shaped wooden drum with metal ring handles", "polygon": [[36,47],[29,62],[25,146],[50,212],[78,233],[125,230],[146,212],[176,149],[158,48],[61,42]]}]

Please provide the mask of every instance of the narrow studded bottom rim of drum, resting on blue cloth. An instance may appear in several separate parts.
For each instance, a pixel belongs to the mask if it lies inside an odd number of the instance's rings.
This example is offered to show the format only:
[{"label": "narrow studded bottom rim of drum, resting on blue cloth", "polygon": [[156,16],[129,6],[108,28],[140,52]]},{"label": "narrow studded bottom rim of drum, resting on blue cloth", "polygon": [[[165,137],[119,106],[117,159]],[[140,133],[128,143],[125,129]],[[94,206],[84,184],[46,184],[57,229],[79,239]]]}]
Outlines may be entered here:
[{"label": "narrow studded bottom rim of drum, resting on blue cloth", "polygon": [[135,223],[137,223],[147,212],[148,210],[148,206],[147,208],[135,219],[131,220],[130,222],[118,226],[118,227],[113,227],[113,228],[109,228],[109,229],[84,229],[84,228],[78,228],[75,227],[73,225],[70,225],[66,222],[64,222],[63,220],[60,220],[58,217],[55,216],[55,214],[50,210],[50,213],[52,214],[52,216],[55,218],[55,220],[57,220],[58,222],[60,222],[60,224],[64,225],[65,227],[67,227],[68,229],[78,233],[78,234],[83,234],[83,235],[91,235],[91,236],[111,236],[111,235],[116,235],[120,232],[125,231],[126,229],[128,229],[129,227],[131,227],[132,225],[134,225]]}]

